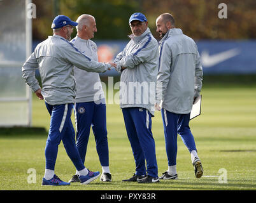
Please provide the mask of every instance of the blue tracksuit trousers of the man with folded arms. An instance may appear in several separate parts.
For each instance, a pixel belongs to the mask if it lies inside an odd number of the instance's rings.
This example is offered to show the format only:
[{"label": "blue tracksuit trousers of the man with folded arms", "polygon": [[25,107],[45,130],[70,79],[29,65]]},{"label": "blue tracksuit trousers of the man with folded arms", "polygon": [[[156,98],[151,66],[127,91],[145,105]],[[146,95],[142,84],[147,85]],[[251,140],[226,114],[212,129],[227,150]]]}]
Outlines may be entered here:
[{"label": "blue tracksuit trousers of the man with folded arms", "polygon": [[[136,164],[136,174],[158,177],[151,114],[145,108],[122,108],[127,136]],[[145,166],[146,160],[146,166]]]}]

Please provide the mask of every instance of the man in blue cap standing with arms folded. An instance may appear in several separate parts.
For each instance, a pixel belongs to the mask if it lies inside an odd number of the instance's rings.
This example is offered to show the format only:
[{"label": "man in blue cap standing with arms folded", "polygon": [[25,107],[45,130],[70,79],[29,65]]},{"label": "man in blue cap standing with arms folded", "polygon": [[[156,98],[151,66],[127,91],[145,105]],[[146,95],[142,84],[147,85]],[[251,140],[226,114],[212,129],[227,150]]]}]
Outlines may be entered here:
[{"label": "man in blue cap standing with arms folded", "polygon": [[[120,78],[120,108],[136,164],[134,176],[123,181],[159,182],[152,116],[158,67],[158,44],[142,13],[129,19],[131,41],[115,58]],[[145,163],[146,160],[146,163]],[[146,167],[145,167],[146,164]]]}]

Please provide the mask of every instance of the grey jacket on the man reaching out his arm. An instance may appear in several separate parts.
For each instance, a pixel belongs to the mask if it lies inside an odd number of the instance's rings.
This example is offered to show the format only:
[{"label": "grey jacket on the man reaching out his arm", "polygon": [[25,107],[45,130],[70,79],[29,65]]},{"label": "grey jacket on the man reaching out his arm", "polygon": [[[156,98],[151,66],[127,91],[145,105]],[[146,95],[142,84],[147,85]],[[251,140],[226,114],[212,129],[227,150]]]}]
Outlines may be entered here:
[{"label": "grey jacket on the man reaching out his arm", "polygon": [[64,37],[53,35],[36,46],[22,67],[22,77],[32,91],[36,91],[40,87],[35,71],[39,69],[42,82],[41,94],[46,103],[50,105],[75,103],[74,65],[91,72],[105,72],[111,67],[110,64],[95,62],[83,55]]}]

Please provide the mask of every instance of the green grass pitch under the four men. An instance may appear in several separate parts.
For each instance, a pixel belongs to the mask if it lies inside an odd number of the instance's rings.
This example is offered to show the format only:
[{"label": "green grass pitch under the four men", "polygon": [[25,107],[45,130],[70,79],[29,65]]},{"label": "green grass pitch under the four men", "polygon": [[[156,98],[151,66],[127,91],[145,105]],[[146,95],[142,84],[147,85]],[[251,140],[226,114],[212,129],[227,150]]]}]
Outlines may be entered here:
[{"label": "green grass pitch under the four men", "polygon": [[[47,133],[0,135],[0,190],[255,190],[256,189],[256,87],[205,87],[202,91],[202,114],[190,122],[204,174],[197,179],[190,154],[178,136],[178,180],[160,183],[123,183],[134,173],[134,159],[117,104],[107,105],[108,142],[111,183],[93,181],[89,185],[73,183],[68,187],[42,187],[45,172]],[[72,115],[74,120],[74,116]],[[48,131],[50,116],[44,101],[33,96],[32,126]],[[152,118],[159,176],[167,169],[162,118]],[[91,131],[92,132],[92,131]],[[90,134],[85,166],[101,171],[94,135]],[[35,183],[29,169],[34,169]],[[55,173],[68,181],[75,167],[62,143]]]}]

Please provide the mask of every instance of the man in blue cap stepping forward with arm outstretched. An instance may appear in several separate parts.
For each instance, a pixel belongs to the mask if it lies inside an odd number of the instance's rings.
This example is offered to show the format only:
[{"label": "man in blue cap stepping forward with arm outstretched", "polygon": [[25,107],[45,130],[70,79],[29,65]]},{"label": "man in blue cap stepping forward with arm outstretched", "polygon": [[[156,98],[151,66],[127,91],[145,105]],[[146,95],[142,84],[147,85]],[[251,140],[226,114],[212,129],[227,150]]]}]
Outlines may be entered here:
[{"label": "man in blue cap stepping forward with arm outstretched", "polygon": [[[113,63],[95,62],[83,55],[73,44],[69,43],[73,22],[68,16],[56,16],[52,23],[53,36],[38,44],[22,67],[22,77],[40,100],[45,100],[51,116],[50,129],[45,147],[45,176],[42,185],[70,185],[55,175],[55,162],[60,141],[79,173],[82,184],[88,184],[99,176],[99,171],[87,169],[76,148],[75,130],[71,122],[73,103],[75,103],[76,86],[73,66],[91,72],[105,72]],[[42,89],[35,77],[39,69]]]}]

